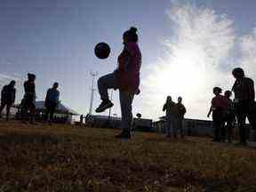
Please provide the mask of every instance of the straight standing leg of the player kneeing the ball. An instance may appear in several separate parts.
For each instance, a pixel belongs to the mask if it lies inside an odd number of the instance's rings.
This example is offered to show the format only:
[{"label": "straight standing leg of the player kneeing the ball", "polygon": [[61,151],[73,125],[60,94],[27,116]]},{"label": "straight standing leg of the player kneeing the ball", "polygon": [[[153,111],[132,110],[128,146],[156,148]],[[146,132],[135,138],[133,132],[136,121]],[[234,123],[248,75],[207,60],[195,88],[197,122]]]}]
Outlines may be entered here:
[{"label": "straight standing leg of the player kneeing the ball", "polygon": [[131,132],[133,92],[119,91],[123,132]]}]

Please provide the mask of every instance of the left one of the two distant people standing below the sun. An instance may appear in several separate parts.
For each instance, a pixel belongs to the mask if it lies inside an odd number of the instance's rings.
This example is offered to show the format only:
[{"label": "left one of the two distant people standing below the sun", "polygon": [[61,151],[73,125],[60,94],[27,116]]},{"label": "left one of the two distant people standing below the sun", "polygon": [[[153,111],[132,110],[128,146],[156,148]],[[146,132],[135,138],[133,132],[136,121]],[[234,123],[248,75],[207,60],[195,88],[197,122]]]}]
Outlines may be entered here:
[{"label": "left one of the two distant people standing below the sun", "polygon": [[171,96],[167,96],[166,102],[163,107],[163,111],[166,111],[165,121],[166,121],[166,137],[171,137],[171,128],[173,137],[177,138],[177,115],[178,109],[176,103],[172,101]]}]

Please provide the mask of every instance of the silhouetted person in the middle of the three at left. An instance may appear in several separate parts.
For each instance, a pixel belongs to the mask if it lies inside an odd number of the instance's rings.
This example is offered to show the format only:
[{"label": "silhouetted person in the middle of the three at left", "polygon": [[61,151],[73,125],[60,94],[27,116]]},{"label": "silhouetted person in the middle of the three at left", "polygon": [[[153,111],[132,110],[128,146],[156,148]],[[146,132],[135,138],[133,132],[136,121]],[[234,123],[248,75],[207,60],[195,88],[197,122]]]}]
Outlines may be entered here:
[{"label": "silhouetted person in the middle of the three at left", "polygon": [[34,116],[36,113],[36,75],[28,73],[28,81],[24,83],[24,97],[21,101],[21,118],[26,119],[29,112],[29,121],[32,124],[34,122]]}]

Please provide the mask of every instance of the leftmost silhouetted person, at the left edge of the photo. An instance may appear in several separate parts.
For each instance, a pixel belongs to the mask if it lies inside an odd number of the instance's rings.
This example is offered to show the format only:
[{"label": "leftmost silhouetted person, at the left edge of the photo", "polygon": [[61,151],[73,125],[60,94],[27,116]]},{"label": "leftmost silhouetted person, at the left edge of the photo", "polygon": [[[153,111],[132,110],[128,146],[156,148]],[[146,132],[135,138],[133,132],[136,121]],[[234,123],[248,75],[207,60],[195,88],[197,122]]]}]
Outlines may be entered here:
[{"label": "leftmost silhouetted person, at the left edge of the photo", "polygon": [[1,92],[1,107],[0,107],[0,118],[2,117],[2,111],[6,106],[6,121],[9,120],[10,109],[15,102],[16,89],[14,88],[16,82],[11,81],[3,87]]}]

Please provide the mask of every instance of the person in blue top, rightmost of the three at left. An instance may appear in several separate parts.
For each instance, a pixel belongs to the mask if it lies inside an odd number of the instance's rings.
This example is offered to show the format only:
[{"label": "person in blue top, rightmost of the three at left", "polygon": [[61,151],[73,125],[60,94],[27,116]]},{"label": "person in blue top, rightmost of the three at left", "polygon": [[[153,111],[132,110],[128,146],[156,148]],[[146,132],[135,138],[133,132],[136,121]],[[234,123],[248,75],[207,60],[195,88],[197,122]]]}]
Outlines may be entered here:
[{"label": "person in blue top, rightmost of the three at left", "polygon": [[44,100],[44,107],[46,108],[45,122],[48,121],[49,124],[52,123],[55,109],[59,106],[60,92],[58,91],[58,87],[59,84],[55,82],[52,88],[48,89]]}]

